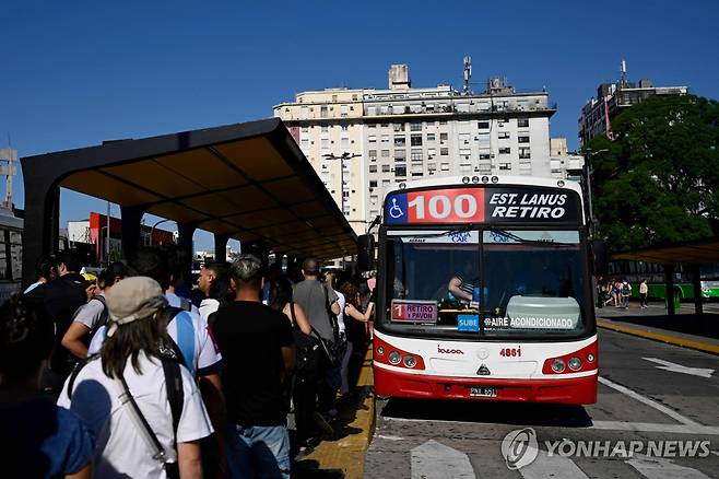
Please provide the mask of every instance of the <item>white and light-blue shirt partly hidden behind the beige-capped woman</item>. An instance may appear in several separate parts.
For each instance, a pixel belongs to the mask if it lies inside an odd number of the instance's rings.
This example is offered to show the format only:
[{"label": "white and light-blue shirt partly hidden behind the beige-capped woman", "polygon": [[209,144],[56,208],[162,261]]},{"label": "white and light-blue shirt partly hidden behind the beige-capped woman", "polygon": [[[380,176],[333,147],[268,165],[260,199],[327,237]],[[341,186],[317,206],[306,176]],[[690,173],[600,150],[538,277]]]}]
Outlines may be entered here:
[{"label": "white and light-blue shirt partly hidden behind the beige-capped woman", "polygon": [[[167,302],[170,304],[170,306],[175,306],[173,304],[173,301],[175,300],[172,299],[168,294],[166,294],[165,296],[167,296]],[[175,294],[173,294],[173,296],[177,299],[176,307],[179,307],[179,296],[176,296]],[[186,316],[180,318],[179,317],[180,315],[186,315]],[[197,307],[195,307],[195,309],[191,312],[182,311],[181,313],[179,313],[175,317],[175,319],[173,319],[167,325],[167,334],[185,352],[185,349],[182,348],[185,346],[185,342],[178,337],[177,325],[179,320],[186,320],[186,319],[189,319],[188,323],[192,327],[191,334],[193,335],[195,338],[192,344],[189,344],[192,348],[192,352],[191,352],[192,362],[190,364],[191,365],[190,372],[196,376],[205,376],[208,374],[217,372],[217,369],[220,367],[220,364],[222,362],[222,354],[220,354],[220,351],[215,348],[214,341],[210,336],[210,332],[208,330],[208,322],[202,319],[202,316],[200,316],[200,313],[198,312]],[[97,330],[95,336],[93,336],[90,347],[87,348],[87,355],[92,355],[99,352],[99,349],[103,346],[104,341],[105,341],[105,327],[102,327]],[[185,359],[187,360],[187,358]]]}]

